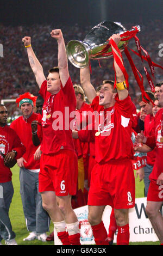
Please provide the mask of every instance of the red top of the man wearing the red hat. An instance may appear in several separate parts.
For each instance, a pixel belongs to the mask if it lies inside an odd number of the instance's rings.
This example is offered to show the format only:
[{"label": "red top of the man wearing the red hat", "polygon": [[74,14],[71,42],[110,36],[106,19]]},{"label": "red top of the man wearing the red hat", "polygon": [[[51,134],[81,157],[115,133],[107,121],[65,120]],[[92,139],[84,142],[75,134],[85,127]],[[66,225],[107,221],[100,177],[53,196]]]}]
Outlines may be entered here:
[{"label": "red top of the man wearing the red hat", "polygon": [[[29,170],[40,169],[40,160],[34,160],[34,153],[39,147],[35,147],[32,141],[32,128],[31,123],[34,120],[39,119],[39,114],[32,113],[29,118],[24,119],[23,116],[18,117],[16,120],[12,121],[10,127],[17,133],[20,137],[21,142],[26,147],[26,153],[23,155],[23,158],[26,160],[24,167]],[[38,133],[41,134],[41,126],[37,126]],[[40,138],[41,141],[41,138]]]}]

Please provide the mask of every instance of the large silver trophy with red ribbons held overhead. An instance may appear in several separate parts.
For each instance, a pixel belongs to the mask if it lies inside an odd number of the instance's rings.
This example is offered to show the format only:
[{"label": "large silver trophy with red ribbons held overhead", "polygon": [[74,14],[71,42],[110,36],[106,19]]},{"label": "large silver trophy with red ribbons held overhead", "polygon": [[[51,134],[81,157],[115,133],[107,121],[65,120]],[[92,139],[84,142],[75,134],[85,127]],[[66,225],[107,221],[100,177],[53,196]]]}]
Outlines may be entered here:
[{"label": "large silver trophy with red ribbons held overhead", "polygon": [[[71,40],[66,46],[67,57],[77,68],[85,68],[89,59],[106,59],[112,56],[108,39],[113,34],[120,34],[121,41],[118,48],[122,52],[128,45],[129,34],[140,31],[140,26],[135,26],[127,31],[120,22],[103,21],[93,27],[83,41]],[[123,36],[124,34],[124,36]]]}]

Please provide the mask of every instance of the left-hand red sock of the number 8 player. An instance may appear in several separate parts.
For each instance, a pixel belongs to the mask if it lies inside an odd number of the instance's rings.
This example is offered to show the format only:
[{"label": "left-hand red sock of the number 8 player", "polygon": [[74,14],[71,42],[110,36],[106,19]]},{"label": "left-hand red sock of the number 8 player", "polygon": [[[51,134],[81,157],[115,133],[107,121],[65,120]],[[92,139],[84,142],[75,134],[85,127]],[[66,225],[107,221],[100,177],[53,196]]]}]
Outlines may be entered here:
[{"label": "left-hand red sock of the number 8 player", "polygon": [[108,234],[106,232],[103,221],[91,227],[93,231],[93,236],[95,237],[96,245],[109,245]]}]

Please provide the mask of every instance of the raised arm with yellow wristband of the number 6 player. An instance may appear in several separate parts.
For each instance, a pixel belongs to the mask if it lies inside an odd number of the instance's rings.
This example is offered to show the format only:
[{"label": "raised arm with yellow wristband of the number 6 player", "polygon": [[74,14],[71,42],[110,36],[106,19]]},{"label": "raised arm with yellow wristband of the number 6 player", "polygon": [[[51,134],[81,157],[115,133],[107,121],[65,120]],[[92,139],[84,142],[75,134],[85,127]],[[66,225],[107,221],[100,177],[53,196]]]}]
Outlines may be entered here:
[{"label": "raised arm with yellow wristband of the number 6 player", "polygon": [[35,53],[33,51],[32,45],[31,45],[31,38],[29,36],[24,36],[22,39],[24,42],[24,46],[27,49],[29,64],[34,72],[36,82],[39,87],[41,87],[41,84],[43,81],[46,80],[45,75],[43,74],[43,68],[40,64],[39,60],[36,58]]}]

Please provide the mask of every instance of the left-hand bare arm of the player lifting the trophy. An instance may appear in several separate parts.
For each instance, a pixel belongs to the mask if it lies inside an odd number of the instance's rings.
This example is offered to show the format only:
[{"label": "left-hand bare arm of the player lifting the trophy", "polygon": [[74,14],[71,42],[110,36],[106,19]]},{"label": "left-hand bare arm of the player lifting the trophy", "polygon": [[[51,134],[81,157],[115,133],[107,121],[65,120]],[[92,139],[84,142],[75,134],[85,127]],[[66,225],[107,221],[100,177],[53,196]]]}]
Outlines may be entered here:
[{"label": "left-hand bare arm of the player lifting the trophy", "polygon": [[87,99],[90,103],[97,96],[95,88],[91,84],[91,76],[89,65],[84,69],[80,69],[80,83],[83,87],[84,93],[87,96]]}]

